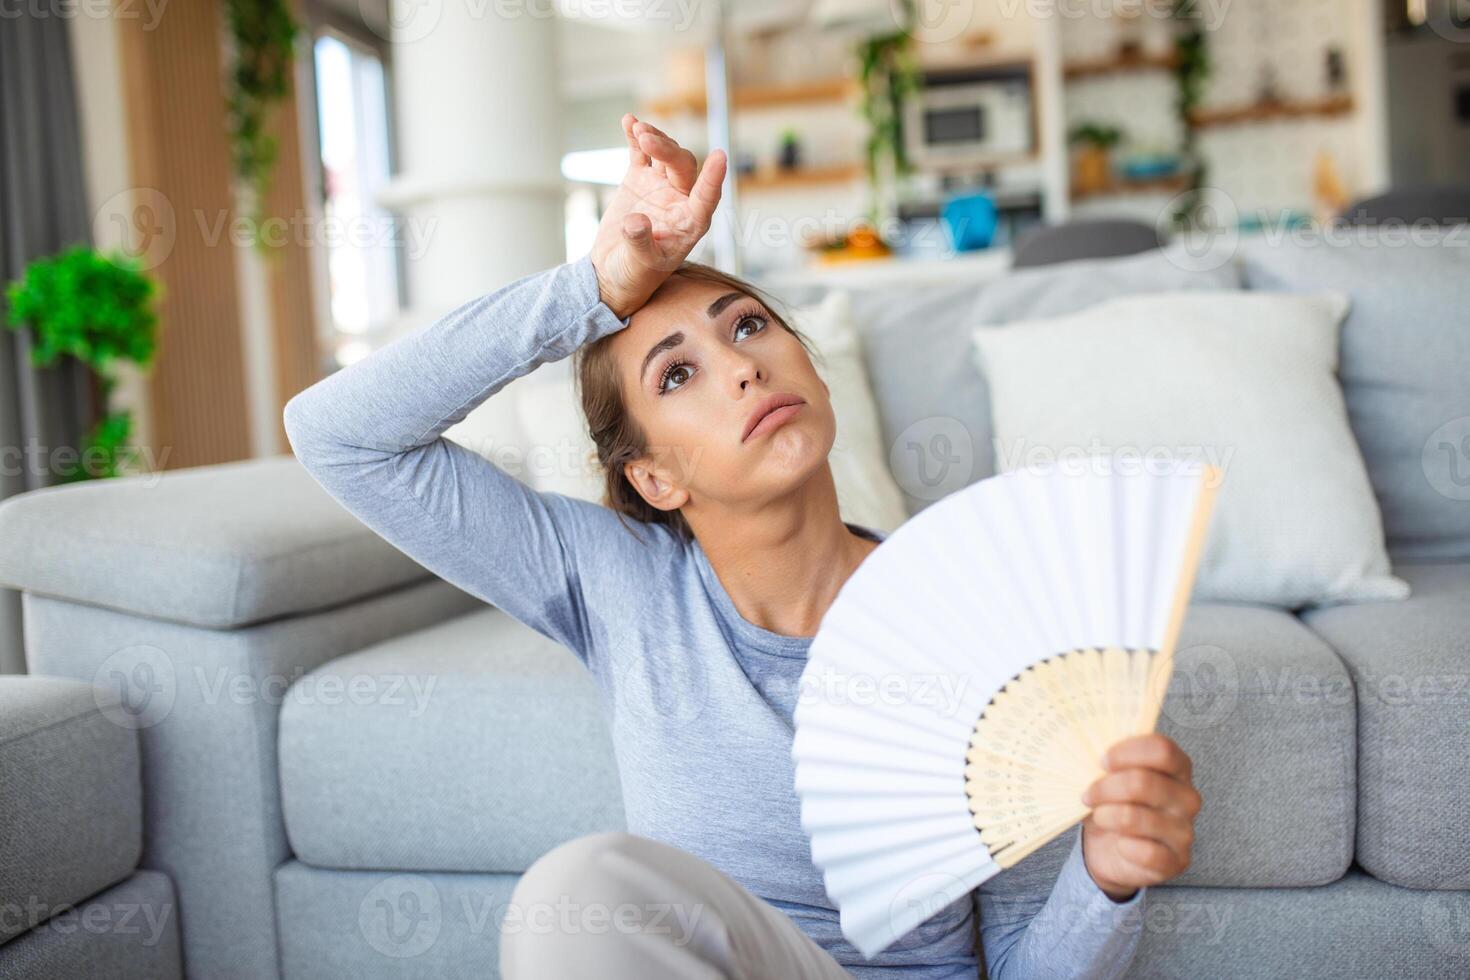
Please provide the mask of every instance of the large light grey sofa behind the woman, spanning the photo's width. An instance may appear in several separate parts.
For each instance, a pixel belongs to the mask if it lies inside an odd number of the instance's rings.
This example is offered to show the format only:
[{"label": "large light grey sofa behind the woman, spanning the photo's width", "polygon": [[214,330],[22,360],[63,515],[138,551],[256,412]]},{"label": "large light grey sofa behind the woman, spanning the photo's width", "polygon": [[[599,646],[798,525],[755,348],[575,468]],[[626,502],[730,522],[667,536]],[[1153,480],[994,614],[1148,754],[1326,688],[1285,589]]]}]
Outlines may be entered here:
[{"label": "large light grey sofa behind the woman, spanning the photo's width", "polygon": [[[1133,977],[1470,976],[1470,441],[1460,460],[1444,435],[1470,423],[1467,251],[1254,241],[1202,269],[1155,251],[856,297],[886,436],[963,432],[961,483],[994,472],[973,322],[1150,289],[1354,297],[1341,376],[1414,595],[1191,607],[1160,727],[1207,802]],[[938,495],[894,460],[911,510]],[[492,977],[517,874],[622,826],[570,654],[290,457],[12,498],[0,583],[34,673],[140,688],[141,867],[178,889],[190,977]]]}]

